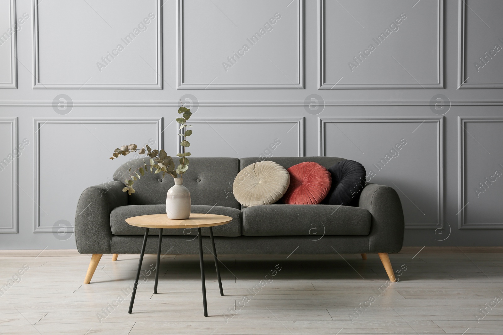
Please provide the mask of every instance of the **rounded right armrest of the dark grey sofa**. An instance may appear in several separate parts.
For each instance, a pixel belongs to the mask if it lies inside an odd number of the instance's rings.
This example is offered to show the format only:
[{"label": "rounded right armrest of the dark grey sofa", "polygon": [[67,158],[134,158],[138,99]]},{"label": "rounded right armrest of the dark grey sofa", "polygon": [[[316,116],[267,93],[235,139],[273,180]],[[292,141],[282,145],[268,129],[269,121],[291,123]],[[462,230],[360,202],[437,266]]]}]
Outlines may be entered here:
[{"label": "rounded right armrest of the dark grey sofa", "polygon": [[359,207],[370,211],[372,223],[369,252],[397,253],[402,249],[404,219],[400,198],[389,186],[367,184],[360,195]]}]

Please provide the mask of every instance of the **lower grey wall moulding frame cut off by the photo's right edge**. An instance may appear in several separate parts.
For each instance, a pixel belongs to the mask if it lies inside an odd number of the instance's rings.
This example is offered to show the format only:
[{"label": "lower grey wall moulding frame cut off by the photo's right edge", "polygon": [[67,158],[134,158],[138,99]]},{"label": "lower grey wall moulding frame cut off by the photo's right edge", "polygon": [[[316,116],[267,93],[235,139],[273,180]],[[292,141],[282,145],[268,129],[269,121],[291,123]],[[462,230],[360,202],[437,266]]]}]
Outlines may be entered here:
[{"label": "lower grey wall moulding frame cut off by the photo's right edge", "polygon": [[471,122],[503,122],[503,117],[458,117],[458,229],[503,229],[503,222],[470,224],[465,220],[465,125]]}]

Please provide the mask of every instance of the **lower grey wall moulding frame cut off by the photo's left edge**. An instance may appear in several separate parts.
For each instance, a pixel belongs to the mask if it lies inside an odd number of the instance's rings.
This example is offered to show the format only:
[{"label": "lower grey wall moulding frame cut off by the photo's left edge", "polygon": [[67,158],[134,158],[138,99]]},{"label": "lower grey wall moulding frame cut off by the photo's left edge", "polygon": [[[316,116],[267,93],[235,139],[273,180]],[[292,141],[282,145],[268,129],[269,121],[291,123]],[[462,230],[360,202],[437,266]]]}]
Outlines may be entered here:
[{"label": "lower grey wall moulding frame cut off by the photo's left edge", "polygon": [[[0,123],[11,125],[11,136],[12,136],[12,149],[19,149],[19,139],[18,139],[18,118],[0,118]],[[12,225],[9,228],[0,228],[0,234],[3,233],[19,233],[19,195],[18,195],[18,183],[19,183],[19,157],[14,156],[12,164]],[[3,189],[5,191],[6,189]]]}]

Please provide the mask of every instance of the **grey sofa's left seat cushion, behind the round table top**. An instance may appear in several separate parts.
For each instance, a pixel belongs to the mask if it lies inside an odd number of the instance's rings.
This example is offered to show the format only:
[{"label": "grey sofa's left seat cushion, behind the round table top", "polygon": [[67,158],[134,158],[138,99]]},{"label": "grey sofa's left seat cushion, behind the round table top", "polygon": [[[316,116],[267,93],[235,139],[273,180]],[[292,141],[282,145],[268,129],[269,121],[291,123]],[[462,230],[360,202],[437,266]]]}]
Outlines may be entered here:
[{"label": "grey sofa's left seat cushion, behind the round table top", "polygon": [[[130,226],[126,218],[148,214],[165,214],[166,205],[128,205],[120,206],[110,213],[110,228],[114,235],[144,235],[145,229],[141,227]],[[232,207],[192,205],[191,213],[209,213],[220,214],[232,217],[226,225],[213,227],[213,235],[220,237],[241,236],[241,211]],[[209,236],[209,229],[203,228],[204,236]],[[158,229],[150,229],[148,235],[159,235]],[[197,228],[186,229],[164,229],[162,235],[185,235],[190,241],[197,237]]]}]

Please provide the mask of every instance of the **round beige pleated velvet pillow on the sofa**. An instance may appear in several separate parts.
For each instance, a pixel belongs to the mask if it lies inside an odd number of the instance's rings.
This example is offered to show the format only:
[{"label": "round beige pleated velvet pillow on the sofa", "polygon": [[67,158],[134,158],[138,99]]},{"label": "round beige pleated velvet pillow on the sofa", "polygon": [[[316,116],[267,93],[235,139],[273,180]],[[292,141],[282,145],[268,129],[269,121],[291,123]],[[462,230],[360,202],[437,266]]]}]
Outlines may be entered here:
[{"label": "round beige pleated velvet pillow on the sofa", "polygon": [[245,207],[269,205],[285,194],[290,174],[278,163],[251,163],[237,174],[232,184],[234,197]]}]

